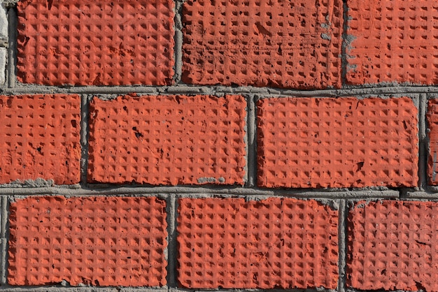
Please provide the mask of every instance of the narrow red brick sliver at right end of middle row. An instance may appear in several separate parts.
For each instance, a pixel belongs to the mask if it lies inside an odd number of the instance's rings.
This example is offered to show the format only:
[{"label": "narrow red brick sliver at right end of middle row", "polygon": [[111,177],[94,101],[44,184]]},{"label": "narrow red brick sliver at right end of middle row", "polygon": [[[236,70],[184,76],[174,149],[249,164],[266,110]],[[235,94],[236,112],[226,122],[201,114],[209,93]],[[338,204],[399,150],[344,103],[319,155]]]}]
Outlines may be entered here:
[{"label": "narrow red brick sliver at right end of middle row", "polygon": [[437,154],[438,154],[438,99],[431,99],[428,106],[428,131],[430,148],[428,157],[429,183],[438,184]]}]

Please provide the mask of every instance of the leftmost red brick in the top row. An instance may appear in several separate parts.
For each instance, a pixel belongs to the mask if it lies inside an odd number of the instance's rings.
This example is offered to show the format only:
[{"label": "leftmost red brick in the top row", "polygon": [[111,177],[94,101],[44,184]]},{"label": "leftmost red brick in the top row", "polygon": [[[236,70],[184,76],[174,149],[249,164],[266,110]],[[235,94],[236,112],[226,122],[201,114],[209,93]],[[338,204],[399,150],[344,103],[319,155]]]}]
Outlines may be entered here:
[{"label": "leftmost red brick in the top row", "polygon": [[46,85],[166,85],[174,66],[171,0],[24,0],[18,80]]}]

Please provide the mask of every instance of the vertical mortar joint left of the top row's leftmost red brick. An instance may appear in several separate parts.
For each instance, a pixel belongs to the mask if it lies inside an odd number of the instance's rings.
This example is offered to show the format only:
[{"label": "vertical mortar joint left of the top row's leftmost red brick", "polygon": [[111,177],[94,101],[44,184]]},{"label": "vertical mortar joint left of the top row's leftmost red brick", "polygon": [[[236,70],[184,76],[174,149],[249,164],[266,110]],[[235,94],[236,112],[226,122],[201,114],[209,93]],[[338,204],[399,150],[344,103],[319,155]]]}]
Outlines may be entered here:
[{"label": "vertical mortar joint left of the top row's leftmost red brick", "polygon": [[17,8],[15,6],[8,8],[8,65],[7,78],[8,87],[15,87],[17,76],[15,67],[17,64]]}]

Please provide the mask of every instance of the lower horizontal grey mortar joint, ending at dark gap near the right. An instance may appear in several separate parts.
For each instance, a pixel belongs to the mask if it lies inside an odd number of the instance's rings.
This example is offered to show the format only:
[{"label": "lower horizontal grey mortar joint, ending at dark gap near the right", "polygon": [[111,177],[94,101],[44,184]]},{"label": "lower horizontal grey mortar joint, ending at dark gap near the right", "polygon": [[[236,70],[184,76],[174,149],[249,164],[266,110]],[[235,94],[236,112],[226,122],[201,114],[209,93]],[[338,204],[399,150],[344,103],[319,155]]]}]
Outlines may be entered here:
[{"label": "lower horizontal grey mortar joint, ending at dark gap near the right", "polygon": [[307,189],[244,189],[244,188],[218,188],[205,187],[107,187],[107,188],[78,188],[69,189],[63,187],[41,188],[0,188],[3,196],[105,196],[105,195],[150,195],[150,194],[199,194],[199,195],[224,195],[224,196],[279,196],[296,198],[398,198],[400,191],[394,189],[358,189],[358,190],[307,190]]}]

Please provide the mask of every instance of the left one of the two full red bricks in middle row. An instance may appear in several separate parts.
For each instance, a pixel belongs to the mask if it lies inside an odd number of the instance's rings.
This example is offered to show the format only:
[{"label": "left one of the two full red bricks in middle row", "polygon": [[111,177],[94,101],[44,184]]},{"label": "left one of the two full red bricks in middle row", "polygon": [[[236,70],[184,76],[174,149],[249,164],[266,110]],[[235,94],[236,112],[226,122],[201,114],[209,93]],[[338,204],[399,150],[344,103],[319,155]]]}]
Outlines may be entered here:
[{"label": "left one of the two full red bricks in middle row", "polygon": [[241,96],[94,98],[89,182],[243,184]]}]

